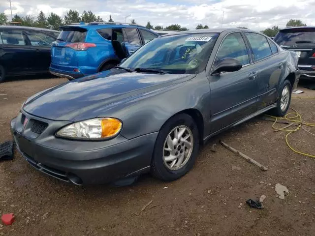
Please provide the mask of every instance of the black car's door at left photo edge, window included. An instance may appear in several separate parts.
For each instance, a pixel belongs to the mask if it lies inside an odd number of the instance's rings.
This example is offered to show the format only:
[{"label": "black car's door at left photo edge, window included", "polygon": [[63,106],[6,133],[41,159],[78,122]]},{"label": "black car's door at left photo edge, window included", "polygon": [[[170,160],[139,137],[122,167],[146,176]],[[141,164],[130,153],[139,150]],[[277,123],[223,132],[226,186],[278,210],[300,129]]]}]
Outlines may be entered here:
[{"label": "black car's door at left photo edge, window included", "polygon": [[29,70],[29,60],[32,49],[26,46],[26,41],[19,29],[2,29],[0,31],[0,64],[8,74],[19,74]]}]

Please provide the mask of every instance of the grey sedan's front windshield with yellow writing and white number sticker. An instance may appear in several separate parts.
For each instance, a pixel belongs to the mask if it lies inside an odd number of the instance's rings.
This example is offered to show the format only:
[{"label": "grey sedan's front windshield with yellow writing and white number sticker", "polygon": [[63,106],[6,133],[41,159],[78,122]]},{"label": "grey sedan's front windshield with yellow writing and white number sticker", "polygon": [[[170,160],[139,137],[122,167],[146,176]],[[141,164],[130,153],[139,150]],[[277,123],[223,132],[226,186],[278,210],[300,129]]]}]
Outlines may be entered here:
[{"label": "grey sedan's front windshield with yellow writing and white number sticker", "polygon": [[126,59],[121,66],[158,69],[171,74],[195,74],[207,65],[219,33],[158,37]]}]

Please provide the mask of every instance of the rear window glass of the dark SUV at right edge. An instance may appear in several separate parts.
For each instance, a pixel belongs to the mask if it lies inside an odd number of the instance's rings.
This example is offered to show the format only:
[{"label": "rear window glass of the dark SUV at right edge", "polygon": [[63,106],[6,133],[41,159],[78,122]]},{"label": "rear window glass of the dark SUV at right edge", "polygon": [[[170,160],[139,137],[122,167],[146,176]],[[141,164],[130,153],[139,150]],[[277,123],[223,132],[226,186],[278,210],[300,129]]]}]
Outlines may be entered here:
[{"label": "rear window glass of the dark SUV at right edge", "polygon": [[279,45],[315,42],[315,29],[285,29],[274,38]]}]

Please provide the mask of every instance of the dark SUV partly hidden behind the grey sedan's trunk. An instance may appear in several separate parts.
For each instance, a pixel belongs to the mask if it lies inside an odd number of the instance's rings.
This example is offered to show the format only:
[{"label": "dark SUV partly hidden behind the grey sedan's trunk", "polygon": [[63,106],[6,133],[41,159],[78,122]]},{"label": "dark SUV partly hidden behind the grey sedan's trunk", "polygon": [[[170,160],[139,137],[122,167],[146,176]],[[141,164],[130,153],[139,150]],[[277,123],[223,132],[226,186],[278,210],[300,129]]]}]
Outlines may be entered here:
[{"label": "dark SUV partly hidden behind the grey sedan's trunk", "polygon": [[299,56],[301,79],[315,80],[315,27],[288,27],[274,38],[283,49],[295,51]]}]

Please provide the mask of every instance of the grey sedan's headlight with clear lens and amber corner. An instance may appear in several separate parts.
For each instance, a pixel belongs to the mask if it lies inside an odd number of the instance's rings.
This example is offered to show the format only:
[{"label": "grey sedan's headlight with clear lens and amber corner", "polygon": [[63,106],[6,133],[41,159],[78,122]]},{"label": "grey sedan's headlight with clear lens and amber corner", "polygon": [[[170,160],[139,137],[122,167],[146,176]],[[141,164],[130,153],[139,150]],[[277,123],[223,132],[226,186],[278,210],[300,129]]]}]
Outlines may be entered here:
[{"label": "grey sedan's headlight with clear lens and amber corner", "polygon": [[70,139],[107,139],[117,135],[122,126],[116,118],[95,118],[64,126],[56,135]]}]

